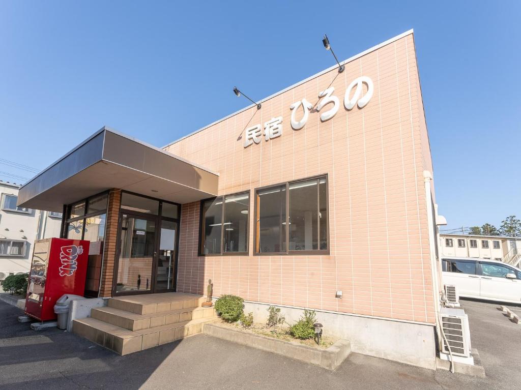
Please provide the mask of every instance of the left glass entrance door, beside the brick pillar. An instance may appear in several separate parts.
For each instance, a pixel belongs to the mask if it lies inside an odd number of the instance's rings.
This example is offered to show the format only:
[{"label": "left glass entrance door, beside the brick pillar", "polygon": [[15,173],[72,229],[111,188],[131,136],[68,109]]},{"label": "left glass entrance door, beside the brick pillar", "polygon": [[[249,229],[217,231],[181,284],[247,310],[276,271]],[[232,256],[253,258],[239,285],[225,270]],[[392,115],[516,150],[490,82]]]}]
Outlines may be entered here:
[{"label": "left glass entrance door, beside the brick pillar", "polygon": [[116,294],[154,290],[156,218],[121,214]]}]

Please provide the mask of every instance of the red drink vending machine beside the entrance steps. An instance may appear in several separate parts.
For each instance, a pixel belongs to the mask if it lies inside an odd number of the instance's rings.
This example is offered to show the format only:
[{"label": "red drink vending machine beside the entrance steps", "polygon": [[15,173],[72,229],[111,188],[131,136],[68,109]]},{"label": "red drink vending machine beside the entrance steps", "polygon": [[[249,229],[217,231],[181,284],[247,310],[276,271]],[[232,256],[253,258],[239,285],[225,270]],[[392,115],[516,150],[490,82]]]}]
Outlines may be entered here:
[{"label": "red drink vending machine beside the entrance steps", "polygon": [[68,238],[46,238],[34,243],[26,296],[28,316],[54,320],[58,298],[64,294],[83,296],[89,244]]}]

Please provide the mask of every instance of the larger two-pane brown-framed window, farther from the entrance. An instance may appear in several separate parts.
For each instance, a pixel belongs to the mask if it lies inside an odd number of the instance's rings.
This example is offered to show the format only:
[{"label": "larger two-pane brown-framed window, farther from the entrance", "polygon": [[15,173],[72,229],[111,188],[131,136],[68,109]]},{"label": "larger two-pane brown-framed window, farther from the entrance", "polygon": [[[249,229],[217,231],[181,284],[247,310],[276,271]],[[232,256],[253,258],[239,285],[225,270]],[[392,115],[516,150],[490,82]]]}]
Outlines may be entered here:
[{"label": "larger two-pane brown-framed window, farther from the entrance", "polygon": [[327,253],[327,191],[325,176],[257,190],[255,252]]}]

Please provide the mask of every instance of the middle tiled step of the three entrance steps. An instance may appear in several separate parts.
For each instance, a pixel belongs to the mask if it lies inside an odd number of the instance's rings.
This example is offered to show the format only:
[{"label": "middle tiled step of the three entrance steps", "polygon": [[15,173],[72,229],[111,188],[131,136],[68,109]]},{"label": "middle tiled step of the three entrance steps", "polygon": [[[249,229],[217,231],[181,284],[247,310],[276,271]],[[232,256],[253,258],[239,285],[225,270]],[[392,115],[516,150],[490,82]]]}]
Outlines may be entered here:
[{"label": "middle tiled step of the three entrance steps", "polygon": [[160,311],[151,314],[136,314],[108,306],[91,310],[92,318],[120,326],[120,328],[125,328],[130,331],[139,331],[176,322],[199,320],[201,318],[212,318],[215,316],[216,313],[213,307],[192,307],[187,309]]}]

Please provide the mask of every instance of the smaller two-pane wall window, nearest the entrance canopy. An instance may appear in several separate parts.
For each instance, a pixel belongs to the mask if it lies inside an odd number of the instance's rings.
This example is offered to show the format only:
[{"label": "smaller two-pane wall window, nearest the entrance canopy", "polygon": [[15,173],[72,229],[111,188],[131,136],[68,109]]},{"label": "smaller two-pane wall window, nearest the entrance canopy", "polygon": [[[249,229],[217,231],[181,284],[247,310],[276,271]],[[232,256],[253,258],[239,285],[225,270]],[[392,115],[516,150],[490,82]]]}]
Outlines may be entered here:
[{"label": "smaller two-pane wall window, nearest the entrance canopy", "polygon": [[201,255],[247,254],[249,210],[249,192],[204,200]]}]

